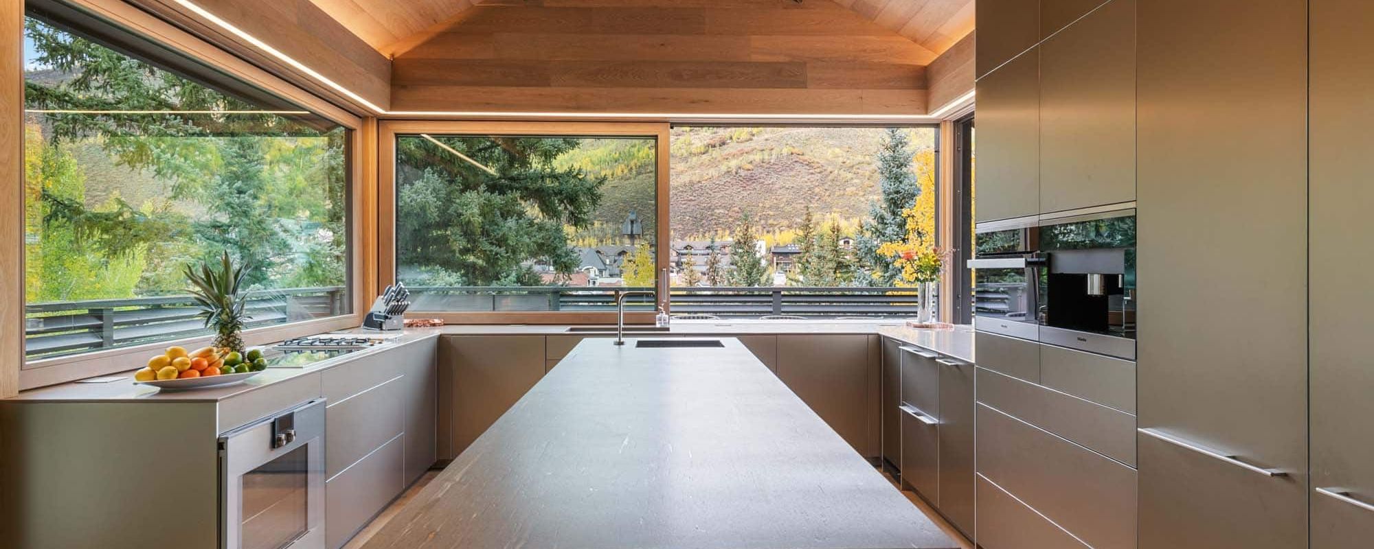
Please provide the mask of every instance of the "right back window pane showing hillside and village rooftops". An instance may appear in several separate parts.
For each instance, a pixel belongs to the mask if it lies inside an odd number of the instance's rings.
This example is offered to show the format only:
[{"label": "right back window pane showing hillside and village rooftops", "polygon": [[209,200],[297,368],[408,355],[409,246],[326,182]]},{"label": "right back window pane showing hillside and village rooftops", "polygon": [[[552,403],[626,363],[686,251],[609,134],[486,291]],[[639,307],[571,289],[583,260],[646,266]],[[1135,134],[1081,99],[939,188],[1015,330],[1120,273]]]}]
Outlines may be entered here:
[{"label": "right back window pane showing hillside and village rooftops", "polygon": [[682,126],[671,165],[675,314],[915,316],[938,274],[934,128]]}]

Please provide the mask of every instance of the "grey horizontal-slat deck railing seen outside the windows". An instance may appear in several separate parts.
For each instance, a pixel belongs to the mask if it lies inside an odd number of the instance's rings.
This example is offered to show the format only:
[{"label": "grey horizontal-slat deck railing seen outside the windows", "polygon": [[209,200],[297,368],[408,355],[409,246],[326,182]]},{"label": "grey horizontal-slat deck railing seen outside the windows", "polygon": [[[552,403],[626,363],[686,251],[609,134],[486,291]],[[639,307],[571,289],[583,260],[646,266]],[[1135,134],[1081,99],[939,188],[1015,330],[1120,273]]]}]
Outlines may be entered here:
[{"label": "grey horizontal-slat deck railing seen outside the windows", "polygon": [[[412,287],[409,316],[423,312],[613,312],[625,287]],[[914,317],[919,298],[910,288],[877,287],[679,287],[675,316],[720,318]],[[632,295],[627,310],[653,312],[647,295]],[[290,288],[249,294],[249,327],[342,314],[342,287]],[[190,296],[32,303],[25,307],[25,353],[55,357],[207,334]]]}]

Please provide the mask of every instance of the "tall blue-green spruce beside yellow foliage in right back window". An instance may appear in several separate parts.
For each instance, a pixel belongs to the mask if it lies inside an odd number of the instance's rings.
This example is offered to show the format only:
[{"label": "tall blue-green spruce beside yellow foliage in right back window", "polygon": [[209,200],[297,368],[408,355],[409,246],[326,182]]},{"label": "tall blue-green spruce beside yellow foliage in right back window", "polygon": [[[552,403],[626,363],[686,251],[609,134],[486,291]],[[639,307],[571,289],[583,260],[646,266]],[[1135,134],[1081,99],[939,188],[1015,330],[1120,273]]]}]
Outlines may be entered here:
[{"label": "tall blue-green spruce beside yellow foliage in right back window", "polygon": [[878,181],[882,198],[870,207],[868,220],[859,225],[855,255],[859,269],[870,279],[866,284],[893,285],[901,269],[892,258],[879,254],[878,247],[905,236],[907,220],[901,213],[916,203],[921,192],[912,170],[911,141],[904,129],[888,129],[878,151]]}]

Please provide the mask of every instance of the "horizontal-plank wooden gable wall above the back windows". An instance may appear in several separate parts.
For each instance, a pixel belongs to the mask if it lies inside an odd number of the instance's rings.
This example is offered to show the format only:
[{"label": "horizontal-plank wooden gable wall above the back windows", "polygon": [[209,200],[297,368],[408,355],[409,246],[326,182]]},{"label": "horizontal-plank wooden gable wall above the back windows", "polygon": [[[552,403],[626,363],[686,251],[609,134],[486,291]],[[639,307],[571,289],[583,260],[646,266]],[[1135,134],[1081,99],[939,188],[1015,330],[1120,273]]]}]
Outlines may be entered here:
[{"label": "horizontal-plank wooden gable wall above the back windows", "polygon": [[927,111],[936,55],[830,1],[515,4],[481,3],[398,55],[392,110]]}]

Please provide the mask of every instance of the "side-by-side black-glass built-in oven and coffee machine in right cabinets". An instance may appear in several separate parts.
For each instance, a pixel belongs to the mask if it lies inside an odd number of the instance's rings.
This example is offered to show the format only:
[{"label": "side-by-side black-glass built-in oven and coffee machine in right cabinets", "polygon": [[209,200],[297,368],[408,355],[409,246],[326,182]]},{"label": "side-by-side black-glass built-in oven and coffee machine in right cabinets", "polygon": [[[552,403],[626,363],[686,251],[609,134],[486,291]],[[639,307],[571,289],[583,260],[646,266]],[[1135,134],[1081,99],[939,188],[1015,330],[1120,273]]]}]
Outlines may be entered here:
[{"label": "side-by-side black-glass built-in oven and coffee machine in right cabinets", "polygon": [[1135,360],[1135,210],[978,226],[977,329]]}]

